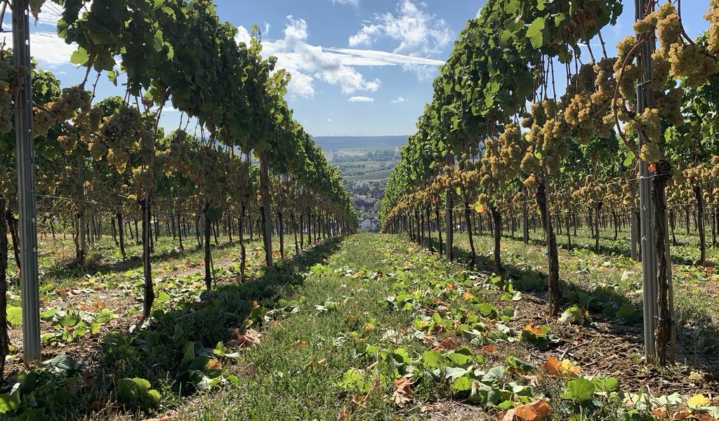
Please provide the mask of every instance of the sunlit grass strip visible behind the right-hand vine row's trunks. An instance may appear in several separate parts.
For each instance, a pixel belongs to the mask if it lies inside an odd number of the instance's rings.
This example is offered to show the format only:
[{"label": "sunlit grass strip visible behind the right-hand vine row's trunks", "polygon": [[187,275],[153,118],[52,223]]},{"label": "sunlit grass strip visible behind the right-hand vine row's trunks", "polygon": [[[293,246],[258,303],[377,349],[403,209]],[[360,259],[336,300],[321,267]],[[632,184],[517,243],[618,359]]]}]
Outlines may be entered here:
[{"label": "sunlit grass strip visible behind the right-hand vine row's trunks", "polygon": [[[719,333],[719,272],[714,268],[697,268],[692,262],[699,255],[698,239],[677,230],[678,246],[671,246],[672,277],[674,279],[675,308],[680,333],[695,329],[706,334]],[[510,234],[506,232],[505,234]],[[509,267],[510,276],[515,279],[528,277],[528,273],[539,271],[546,276],[546,244],[543,233],[531,231],[530,244],[521,241],[521,231],[516,238],[502,239],[503,264]],[[613,231],[600,231],[600,254],[595,254],[595,240],[587,229],[580,229],[577,236],[572,232],[572,249],[567,249],[566,233],[557,234],[559,243],[559,276],[569,287],[569,300],[574,290],[590,291],[615,290],[636,304],[642,300],[641,262],[629,259],[628,233],[620,233],[613,240]],[[457,246],[469,250],[469,240],[464,234],[456,237]],[[489,233],[475,236],[475,248],[480,254],[479,268],[494,269],[493,237]],[[719,249],[707,247],[707,259],[719,262]],[[599,290],[597,290],[599,289]],[[696,334],[696,332],[695,332]]]}]

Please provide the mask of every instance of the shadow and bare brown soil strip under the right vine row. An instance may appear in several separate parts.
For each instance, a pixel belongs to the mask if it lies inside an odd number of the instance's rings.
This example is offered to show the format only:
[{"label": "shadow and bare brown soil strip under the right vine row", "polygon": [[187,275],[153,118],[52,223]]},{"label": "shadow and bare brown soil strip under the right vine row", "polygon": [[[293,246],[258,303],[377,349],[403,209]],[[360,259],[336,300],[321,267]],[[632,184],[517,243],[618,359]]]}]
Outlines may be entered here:
[{"label": "shadow and bare brown soil strip under the right vine row", "polygon": [[[439,243],[436,239],[433,240],[435,241],[433,241],[432,247],[436,250]],[[455,262],[470,263],[470,252],[466,249],[455,246],[453,253]],[[618,373],[622,372],[619,369],[620,366],[626,366],[625,373],[628,371],[636,374],[638,367],[644,366],[637,359],[644,355],[644,318],[641,302],[634,305],[625,295],[611,286],[595,287],[560,279],[560,287],[564,295],[563,307],[574,304],[586,307],[597,323],[591,328],[559,325],[557,318],[549,318],[547,313],[549,303],[546,297],[548,288],[546,272],[531,267],[518,267],[507,262],[503,262],[503,264],[506,277],[511,280],[514,290],[521,291],[524,295],[522,306],[531,307],[531,310],[520,311],[520,313],[531,313],[520,324],[528,322],[544,324],[549,320],[550,325],[553,325],[552,331],[557,331],[557,335],[565,342],[591,343],[592,345],[585,346],[584,350],[575,351],[574,359],[580,361],[580,364],[588,366],[603,364],[605,360],[611,360],[611,362],[606,362],[606,366],[603,367],[606,371],[605,374],[612,373],[612,370]],[[494,260],[489,256],[477,253],[475,265],[471,269],[493,274],[495,272]],[[561,275],[560,273],[560,277]],[[697,313],[695,309],[684,310],[693,310],[695,314]],[[711,320],[709,315],[698,313],[697,318]],[[709,389],[719,387],[719,352],[715,350],[705,352],[702,344],[707,338],[718,337],[719,331],[716,326],[707,325],[698,328],[682,325],[681,320],[677,323],[676,361],[689,369],[707,373],[704,380],[707,381]],[[572,353],[567,353],[567,355],[572,356]],[[667,379],[672,379],[674,382],[682,383],[682,381],[686,381],[687,376],[688,372],[677,376],[677,373],[672,371],[659,372],[654,369],[625,377],[623,384],[636,385],[641,389],[642,382],[660,384],[661,381],[665,381],[666,384],[669,384]],[[689,387],[688,383],[684,386]],[[661,387],[660,384],[659,389]]]}]

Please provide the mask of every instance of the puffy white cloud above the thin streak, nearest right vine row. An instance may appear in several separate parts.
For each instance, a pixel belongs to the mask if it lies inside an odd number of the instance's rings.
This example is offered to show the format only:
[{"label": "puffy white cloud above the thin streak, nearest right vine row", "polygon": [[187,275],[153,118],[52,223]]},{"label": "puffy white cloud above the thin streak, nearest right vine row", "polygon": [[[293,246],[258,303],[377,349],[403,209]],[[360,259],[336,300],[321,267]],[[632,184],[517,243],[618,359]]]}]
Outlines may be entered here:
[{"label": "puffy white cloud above the thin streak, nearest right vine row", "polygon": [[398,42],[393,52],[404,55],[429,56],[442,52],[454,40],[452,29],[444,19],[424,11],[426,4],[401,0],[396,16],[375,14],[373,22],[349,37],[350,47],[372,46],[381,38]]}]

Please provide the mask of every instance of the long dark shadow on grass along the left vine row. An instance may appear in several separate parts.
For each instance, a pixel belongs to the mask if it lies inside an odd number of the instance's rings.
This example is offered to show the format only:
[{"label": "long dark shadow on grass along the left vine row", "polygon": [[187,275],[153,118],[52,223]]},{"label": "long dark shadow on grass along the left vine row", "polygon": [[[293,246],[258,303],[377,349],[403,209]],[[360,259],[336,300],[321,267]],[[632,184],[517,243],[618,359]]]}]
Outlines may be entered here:
[{"label": "long dark shadow on grass along the left vine row", "polygon": [[[342,241],[326,240],[292,259],[260,270],[254,279],[243,283],[239,277],[222,279],[213,291],[188,297],[170,310],[155,310],[142,328],[109,333],[98,349],[80,356],[85,361],[56,356],[50,370],[20,377],[21,412],[4,419],[102,418],[103,412],[112,417],[123,410],[137,415],[149,413],[155,403],[148,389],[132,386],[135,383],[127,379],[149,381],[150,389],[156,389],[162,397],[165,411],[172,407],[174,399],[232,381],[232,376],[216,364],[216,358],[238,348],[225,350],[218,344],[237,341],[241,337],[238,333],[245,333],[246,328],[258,328],[280,298],[291,298],[294,288],[303,284],[302,273],[326,262]],[[6,388],[14,383],[12,380],[11,376]],[[18,380],[17,376],[14,380]],[[237,377],[235,380],[242,381]],[[131,390],[127,390],[128,384]],[[0,388],[0,392],[5,391]],[[122,402],[124,407],[116,402]]]}]

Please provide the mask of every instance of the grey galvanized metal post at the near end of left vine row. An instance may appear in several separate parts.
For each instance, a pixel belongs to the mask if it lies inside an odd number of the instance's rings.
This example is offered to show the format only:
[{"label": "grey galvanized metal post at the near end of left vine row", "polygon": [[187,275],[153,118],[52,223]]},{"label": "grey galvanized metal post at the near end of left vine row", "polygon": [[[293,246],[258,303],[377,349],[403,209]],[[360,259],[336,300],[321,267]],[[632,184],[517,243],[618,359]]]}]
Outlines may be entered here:
[{"label": "grey galvanized metal post at the near end of left vine row", "polygon": [[[12,1],[13,55],[16,66],[30,68],[28,0]],[[17,201],[22,287],[22,350],[25,365],[40,361],[40,288],[37,282],[35,141],[32,137],[32,78],[24,80],[15,103]]]}]

